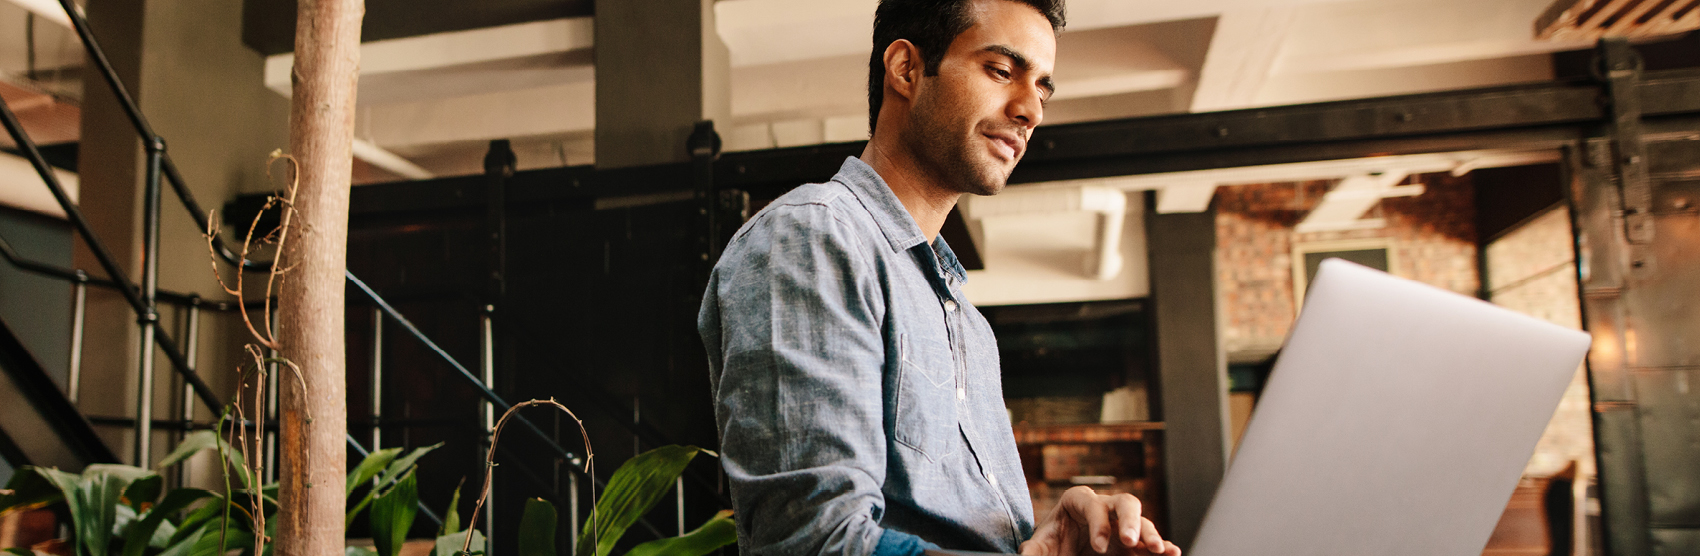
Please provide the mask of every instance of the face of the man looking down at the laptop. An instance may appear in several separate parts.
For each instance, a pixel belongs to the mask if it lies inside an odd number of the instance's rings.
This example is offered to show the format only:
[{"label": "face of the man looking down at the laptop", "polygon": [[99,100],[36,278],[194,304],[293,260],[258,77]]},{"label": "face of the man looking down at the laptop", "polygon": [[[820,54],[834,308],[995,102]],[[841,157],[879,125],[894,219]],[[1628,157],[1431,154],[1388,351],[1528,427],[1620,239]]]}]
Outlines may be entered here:
[{"label": "face of the man looking down at the laptop", "polygon": [[938,75],[920,80],[904,139],[944,185],[994,196],[1044,119],[1056,32],[1025,3],[976,0],[972,10]]}]

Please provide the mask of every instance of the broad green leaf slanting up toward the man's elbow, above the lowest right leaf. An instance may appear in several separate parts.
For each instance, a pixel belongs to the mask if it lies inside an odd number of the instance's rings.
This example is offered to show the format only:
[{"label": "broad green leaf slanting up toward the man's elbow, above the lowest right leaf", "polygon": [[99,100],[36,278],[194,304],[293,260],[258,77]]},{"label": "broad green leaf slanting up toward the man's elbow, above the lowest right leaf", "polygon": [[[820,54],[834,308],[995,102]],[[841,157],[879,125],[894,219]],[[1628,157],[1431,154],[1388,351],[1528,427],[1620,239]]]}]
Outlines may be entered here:
[{"label": "broad green leaf slanting up toward the man's elbow, above the lowest right leaf", "polygon": [[692,457],[702,452],[695,445],[663,445],[627,459],[609,486],[597,500],[597,508],[585,524],[585,532],[578,537],[578,556],[607,556],[614,544],[620,541],[626,529],[631,529],[644,513],[661,502],[661,496],[673,488],[673,481]]}]

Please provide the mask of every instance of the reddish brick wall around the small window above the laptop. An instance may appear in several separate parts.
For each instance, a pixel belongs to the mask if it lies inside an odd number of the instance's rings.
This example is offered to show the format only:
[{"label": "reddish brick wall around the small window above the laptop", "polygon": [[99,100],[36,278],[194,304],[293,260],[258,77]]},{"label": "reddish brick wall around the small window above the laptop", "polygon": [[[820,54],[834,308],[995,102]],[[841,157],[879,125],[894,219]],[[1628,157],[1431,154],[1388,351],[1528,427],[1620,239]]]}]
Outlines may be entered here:
[{"label": "reddish brick wall around the small window above the laptop", "polygon": [[1387,240],[1394,275],[1474,296],[1474,190],[1469,175],[1414,177],[1426,192],[1384,199],[1368,218],[1377,230],[1295,233],[1334,180],[1229,185],[1216,192],[1217,291],[1222,342],[1231,360],[1256,360],[1280,347],[1297,316],[1294,247],[1316,241]]}]

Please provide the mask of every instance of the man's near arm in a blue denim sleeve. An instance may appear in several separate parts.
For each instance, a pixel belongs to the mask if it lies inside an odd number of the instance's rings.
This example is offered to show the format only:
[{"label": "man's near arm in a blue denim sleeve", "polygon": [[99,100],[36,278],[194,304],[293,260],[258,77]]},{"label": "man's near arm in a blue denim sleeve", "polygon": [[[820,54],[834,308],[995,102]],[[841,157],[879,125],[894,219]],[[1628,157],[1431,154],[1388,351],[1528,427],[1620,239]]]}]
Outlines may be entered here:
[{"label": "man's near arm in a blue denim sleeve", "polygon": [[[884,298],[821,204],[765,211],[711,281],[721,454],[746,554],[918,554],[886,500]],[[711,321],[717,320],[717,323]],[[717,333],[707,333],[717,328]]]}]

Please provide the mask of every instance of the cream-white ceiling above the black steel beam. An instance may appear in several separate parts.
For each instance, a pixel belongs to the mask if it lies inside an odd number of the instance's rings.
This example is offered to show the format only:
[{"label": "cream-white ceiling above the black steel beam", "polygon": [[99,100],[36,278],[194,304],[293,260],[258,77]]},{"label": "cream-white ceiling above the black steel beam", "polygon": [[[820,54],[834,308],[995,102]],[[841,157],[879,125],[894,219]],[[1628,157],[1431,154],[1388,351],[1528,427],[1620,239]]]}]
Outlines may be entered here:
[{"label": "cream-white ceiling above the black steel beam", "polygon": [[[0,27],[22,27],[0,2]],[[41,3],[39,0],[34,0]],[[1547,80],[1533,39],[1550,0],[1071,0],[1046,122],[1221,111]],[[867,133],[874,0],[721,0],[733,63],[728,150],[853,141]],[[357,136],[437,175],[481,172],[490,139],[522,168],[593,162],[590,19],[367,43]],[[14,39],[15,37],[15,39]],[[24,44],[0,39],[0,77]],[[75,39],[37,24],[37,66],[80,63]],[[287,94],[289,56],[267,61]],[[379,179],[381,179],[379,172]]]}]

